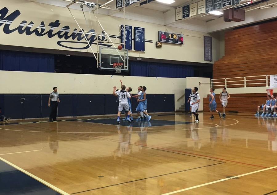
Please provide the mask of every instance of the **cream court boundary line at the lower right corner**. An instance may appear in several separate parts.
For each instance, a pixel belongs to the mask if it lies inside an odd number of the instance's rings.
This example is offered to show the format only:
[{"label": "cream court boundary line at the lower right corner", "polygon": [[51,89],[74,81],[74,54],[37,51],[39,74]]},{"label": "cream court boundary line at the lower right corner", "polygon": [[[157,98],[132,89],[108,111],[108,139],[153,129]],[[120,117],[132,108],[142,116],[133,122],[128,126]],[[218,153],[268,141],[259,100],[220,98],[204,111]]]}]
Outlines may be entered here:
[{"label": "cream court boundary line at the lower right corner", "polygon": [[271,170],[271,169],[275,169],[275,168],[277,168],[277,166],[272,166],[272,167],[269,167],[269,168],[266,168],[266,169],[261,169],[261,170],[257,170],[257,171],[252,171],[252,172],[249,172],[249,173],[245,173],[245,174],[241,174],[241,175],[236,175],[236,176],[233,176],[233,177],[228,177],[228,178],[219,179],[219,180],[216,180],[216,181],[211,181],[211,182],[204,183],[204,184],[200,184],[200,185],[195,185],[195,186],[192,186],[192,187],[188,187],[188,188],[176,190],[176,191],[169,192],[169,193],[164,193],[164,194],[161,194],[161,195],[175,194],[175,193],[187,191],[187,190],[190,190],[190,189],[195,189],[195,188],[199,188],[199,187],[202,187],[202,186],[206,186],[206,185],[211,185],[211,184],[214,184],[214,183],[218,183],[218,182],[221,182],[221,181],[226,181],[226,180],[230,180],[230,179],[235,179],[235,178],[239,178],[239,177],[243,177],[243,176],[246,176],[246,175],[251,175],[251,174],[255,174],[255,173],[259,173],[259,172],[262,172],[262,171],[267,171],[267,170]]}]

